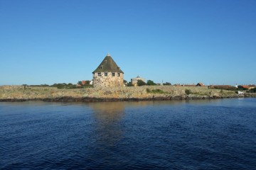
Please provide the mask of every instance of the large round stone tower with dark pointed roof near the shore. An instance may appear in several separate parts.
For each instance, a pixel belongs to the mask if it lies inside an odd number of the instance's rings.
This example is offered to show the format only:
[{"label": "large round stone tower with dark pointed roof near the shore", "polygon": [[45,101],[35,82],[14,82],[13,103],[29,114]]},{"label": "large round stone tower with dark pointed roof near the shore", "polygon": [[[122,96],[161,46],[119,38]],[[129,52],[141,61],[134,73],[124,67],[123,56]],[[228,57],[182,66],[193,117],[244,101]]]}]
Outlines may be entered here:
[{"label": "large round stone tower with dark pointed roof near the shore", "polygon": [[93,87],[124,86],[124,72],[117,66],[110,54],[107,54],[93,74]]}]

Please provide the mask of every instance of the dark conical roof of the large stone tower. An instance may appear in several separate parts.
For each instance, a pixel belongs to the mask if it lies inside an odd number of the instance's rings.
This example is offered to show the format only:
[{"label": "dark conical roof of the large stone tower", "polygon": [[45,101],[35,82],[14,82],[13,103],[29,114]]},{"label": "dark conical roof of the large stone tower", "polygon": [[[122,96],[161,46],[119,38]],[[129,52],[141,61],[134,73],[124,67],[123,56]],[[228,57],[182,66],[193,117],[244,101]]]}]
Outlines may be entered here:
[{"label": "dark conical roof of the large stone tower", "polygon": [[100,65],[95,69],[93,74],[95,72],[119,72],[119,73],[124,73],[120,69],[120,67],[117,66],[117,63],[114,62],[110,54],[107,54],[104,60],[100,63]]}]

